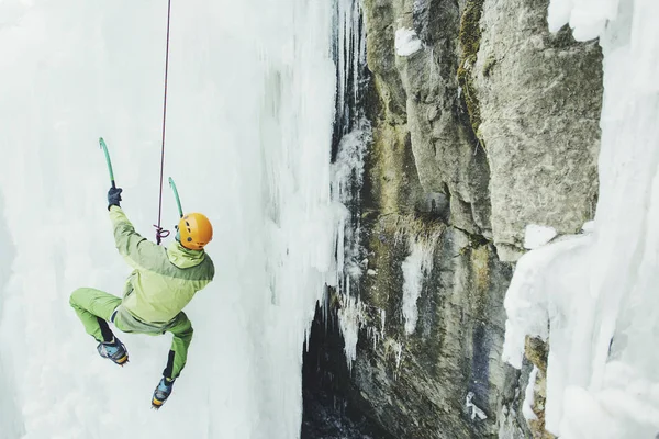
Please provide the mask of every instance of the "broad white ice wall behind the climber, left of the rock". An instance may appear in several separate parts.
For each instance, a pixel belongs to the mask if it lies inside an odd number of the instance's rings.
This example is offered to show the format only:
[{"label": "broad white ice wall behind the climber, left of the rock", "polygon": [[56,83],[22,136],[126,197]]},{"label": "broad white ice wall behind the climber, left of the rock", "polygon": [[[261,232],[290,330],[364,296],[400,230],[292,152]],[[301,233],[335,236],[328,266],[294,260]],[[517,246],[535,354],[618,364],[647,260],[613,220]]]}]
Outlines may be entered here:
[{"label": "broad white ice wall behind the climber, left of the rock", "polygon": [[[131,363],[116,368],[68,306],[78,286],[119,294],[129,272],[99,136],[123,207],[153,239],[166,11],[0,2],[0,224],[15,243],[0,281],[0,368],[15,399],[3,386],[0,407],[19,414],[0,417],[3,438],[299,436],[301,349],[333,270],[332,2],[172,1],[165,172],[183,209],[214,222],[216,280],[186,309],[188,365],[159,413],[149,398],[169,337],[119,334]],[[177,217],[169,192],[164,217]]]}]

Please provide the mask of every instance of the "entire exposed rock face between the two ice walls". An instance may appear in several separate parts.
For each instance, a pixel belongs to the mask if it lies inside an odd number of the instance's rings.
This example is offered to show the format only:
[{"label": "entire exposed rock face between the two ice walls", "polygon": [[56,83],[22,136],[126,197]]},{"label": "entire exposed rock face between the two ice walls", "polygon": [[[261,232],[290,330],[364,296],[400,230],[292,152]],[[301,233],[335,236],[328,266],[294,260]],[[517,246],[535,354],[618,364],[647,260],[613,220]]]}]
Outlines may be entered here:
[{"label": "entire exposed rock face between the two ice walls", "polygon": [[364,0],[367,267],[342,393],[393,437],[532,436],[503,299],[527,224],[593,215],[602,95],[599,46],[549,34],[547,5]]}]

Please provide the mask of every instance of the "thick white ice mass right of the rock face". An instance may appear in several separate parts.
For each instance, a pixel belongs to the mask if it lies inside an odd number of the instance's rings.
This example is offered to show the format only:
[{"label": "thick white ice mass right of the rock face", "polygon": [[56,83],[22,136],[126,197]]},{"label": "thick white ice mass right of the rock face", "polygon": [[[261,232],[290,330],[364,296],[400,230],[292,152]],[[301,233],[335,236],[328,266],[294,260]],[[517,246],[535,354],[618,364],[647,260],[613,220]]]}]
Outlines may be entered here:
[{"label": "thick white ice mass right of the rock face", "polygon": [[561,438],[659,431],[659,4],[551,1],[549,24],[600,36],[604,106],[594,229],[524,256],[506,296],[504,358],[550,345],[547,429]]}]

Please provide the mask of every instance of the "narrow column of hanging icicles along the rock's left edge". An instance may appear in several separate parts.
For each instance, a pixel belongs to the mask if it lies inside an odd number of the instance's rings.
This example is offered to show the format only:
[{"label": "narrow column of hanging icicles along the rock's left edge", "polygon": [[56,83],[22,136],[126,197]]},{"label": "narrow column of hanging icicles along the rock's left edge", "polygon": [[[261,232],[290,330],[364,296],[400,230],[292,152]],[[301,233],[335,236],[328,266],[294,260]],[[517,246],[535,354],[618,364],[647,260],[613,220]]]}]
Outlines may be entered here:
[{"label": "narrow column of hanging icicles along the rock's left edge", "polygon": [[359,279],[364,271],[360,237],[360,190],[364,159],[371,133],[364,114],[362,93],[367,78],[366,31],[359,0],[335,3],[333,56],[336,63],[337,98],[333,135],[332,201],[335,205],[336,277],[332,286],[342,294],[339,326],[345,339],[348,367],[356,358],[361,325]]}]

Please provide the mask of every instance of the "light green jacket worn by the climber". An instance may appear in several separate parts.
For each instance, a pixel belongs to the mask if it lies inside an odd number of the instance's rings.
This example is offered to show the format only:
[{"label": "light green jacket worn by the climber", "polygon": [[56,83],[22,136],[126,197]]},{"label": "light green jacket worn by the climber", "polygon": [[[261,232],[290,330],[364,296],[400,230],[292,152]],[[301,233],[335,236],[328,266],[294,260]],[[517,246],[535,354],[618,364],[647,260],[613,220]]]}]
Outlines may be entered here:
[{"label": "light green jacket worn by the climber", "polygon": [[121,210],[110,207],[116,249],[134,271],[126,281],[122,307],[142,322],[171,322],[215,274],[203,250],[174,241],[165,249],[135,232]]}]

